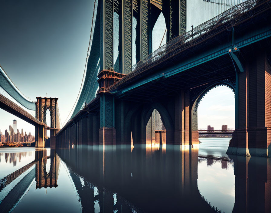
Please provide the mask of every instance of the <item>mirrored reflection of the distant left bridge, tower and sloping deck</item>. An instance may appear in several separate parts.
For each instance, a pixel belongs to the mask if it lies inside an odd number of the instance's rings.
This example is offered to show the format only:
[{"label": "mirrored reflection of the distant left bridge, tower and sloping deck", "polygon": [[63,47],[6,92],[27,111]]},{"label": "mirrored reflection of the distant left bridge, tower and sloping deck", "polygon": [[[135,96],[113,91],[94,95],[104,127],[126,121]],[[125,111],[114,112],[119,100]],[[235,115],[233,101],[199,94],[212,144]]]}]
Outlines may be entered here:
[{"label": "mirrored reflection of the distant left bridge, tower and sloping deck", "polygon": [[[21,167],[15,172],[3,177],[0,180],[0,192],[5,192],[4,198],[0,200],[1,212],[9,212],[14,209],[18,202],[28,192],[29,188],[36,180],[36,188],[57,187],[60,159],[52,150],[47,156],[47,150],[35,151],[35,160]],[[46,171],[47,160],[50,159],[50,171]],[[34,168],[35,165],[35,168]]]}]

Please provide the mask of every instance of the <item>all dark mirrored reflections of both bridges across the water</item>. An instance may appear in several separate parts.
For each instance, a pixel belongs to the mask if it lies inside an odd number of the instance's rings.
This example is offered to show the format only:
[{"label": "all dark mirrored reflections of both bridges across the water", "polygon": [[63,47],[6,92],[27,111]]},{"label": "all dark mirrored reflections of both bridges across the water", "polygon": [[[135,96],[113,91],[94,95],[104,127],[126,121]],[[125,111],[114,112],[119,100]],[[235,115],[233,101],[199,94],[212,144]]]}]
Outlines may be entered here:
[{"label": "all dark mirrored reflections of both bridges across the water", "polygon": [[[122,208],[122,212],[218,212],[198,188],[198,162],[207,161],[212,166],[219,161],[222,169],[234,166],[233,212],[270,212],[271,159],[230,157],[203,156],[198,155],[197,146],[170,145],[79,146],[57,150],[57,154],[51,150],[50,158],[46,150],[38,150],[35,161],[1,180],[0,192],[7,186],[11,190],[0,208],[1,212],[15,208],[34,180],[36,190],[67,184],[57,183],[62,160],[82,211],[113,212]],[[46,172],[49,159],[50,171]]]}]

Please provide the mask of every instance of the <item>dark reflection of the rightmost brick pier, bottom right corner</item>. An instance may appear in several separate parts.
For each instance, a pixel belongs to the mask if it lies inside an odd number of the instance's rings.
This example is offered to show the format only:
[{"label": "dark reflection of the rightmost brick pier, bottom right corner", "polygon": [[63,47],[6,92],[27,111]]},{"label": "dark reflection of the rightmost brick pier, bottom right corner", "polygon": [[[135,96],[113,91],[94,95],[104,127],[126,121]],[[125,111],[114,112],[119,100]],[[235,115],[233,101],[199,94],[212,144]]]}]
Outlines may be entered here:
[{"label": "dark reflection of the rightmost brick pier, bottom right corner", "polygon": [[235,175],[233,213],[271,212],[271,159],[232,156]]}]

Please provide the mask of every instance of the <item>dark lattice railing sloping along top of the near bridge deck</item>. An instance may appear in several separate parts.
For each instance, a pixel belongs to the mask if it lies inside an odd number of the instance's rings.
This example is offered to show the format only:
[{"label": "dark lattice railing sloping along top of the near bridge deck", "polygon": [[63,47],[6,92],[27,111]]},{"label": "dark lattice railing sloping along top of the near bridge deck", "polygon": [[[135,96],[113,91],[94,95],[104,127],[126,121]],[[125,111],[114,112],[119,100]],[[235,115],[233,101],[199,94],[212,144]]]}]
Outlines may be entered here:
[{"label": "dark lattice railing sloping along top of the near bridge deck", "polygon": [[[252,9],[256,5],[256,2],[257,0],[248,0],[236,5],[213,19],[204,22],[193,30],[172,39],[161,48],[152,52],[147,57],[135,64],[127,76],[113,84],[108,90],[115,90],[120,84],[128,82],[132,77],[140,75],[146,70],[161,64],[165,60],[168,60],[182,51],[201,43],[207,38],[211,38],[211,36],[214,36],[227,28],[231,28],[234,24],[236,25],[237,23],[250,18],[253,16],[253,14],[246,13],[245,16],[242,16],[242,14]],[[269,5],[267,4],[266,7],[269,7]],[[264,10],[265,8],[260,9]]]}]

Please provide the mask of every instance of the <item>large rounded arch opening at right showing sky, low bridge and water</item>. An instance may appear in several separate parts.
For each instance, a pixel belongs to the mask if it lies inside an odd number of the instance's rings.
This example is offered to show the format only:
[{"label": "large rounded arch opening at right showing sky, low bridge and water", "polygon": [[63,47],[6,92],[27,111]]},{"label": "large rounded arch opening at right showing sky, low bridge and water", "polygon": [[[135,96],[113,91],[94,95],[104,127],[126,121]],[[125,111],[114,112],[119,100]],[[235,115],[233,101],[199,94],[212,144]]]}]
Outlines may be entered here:
[{"label": "large rounded arch opening at right showing sky, low bridge and water", "polygon": [[219,82],[203,88],[192,107],[192,128],[199,133],[199,152],[226,156],[235,129],[234,85]]}]

